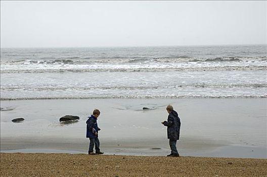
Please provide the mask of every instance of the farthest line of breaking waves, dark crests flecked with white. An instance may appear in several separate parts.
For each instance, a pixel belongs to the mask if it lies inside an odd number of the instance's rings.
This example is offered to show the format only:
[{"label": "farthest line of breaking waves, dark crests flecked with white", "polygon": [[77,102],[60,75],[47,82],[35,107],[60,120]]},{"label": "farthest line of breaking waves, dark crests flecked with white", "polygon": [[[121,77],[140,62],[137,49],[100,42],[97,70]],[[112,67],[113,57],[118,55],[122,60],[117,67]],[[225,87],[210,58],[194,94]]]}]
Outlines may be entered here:
[{"label": "farthest line of breaking waves, dark crests flecked with white", "polygon": [[92,64],[92,63],[183,63],[183,62],[253,62],[266,61],[267,57],[215,57],[215,58],[198,58],[198,57],[159,57],[159,58],[125,58],[125,57],[42,57],[39,60],[1,60],[3,65],[65,65],[65,64]]}]

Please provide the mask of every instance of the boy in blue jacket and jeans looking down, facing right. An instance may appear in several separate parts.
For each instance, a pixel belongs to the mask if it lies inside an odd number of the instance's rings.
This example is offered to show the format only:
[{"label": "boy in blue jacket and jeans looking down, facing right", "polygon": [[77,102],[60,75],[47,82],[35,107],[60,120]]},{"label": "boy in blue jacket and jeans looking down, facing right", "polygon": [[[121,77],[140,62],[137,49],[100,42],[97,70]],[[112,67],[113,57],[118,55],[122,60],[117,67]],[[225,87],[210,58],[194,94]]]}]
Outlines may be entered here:
[{"label": "boy in blue jacket and jeans looking down, facing right", "polygon": [[[86,138],[90,139],[90,144],[89,144],[89,150],[88,154],[90,155],[95,155],[95,154],[104,154],[103,152],[100,151],[100,142],[98,139],[98,131],[100,128],[98,127],[97,124],[97,119],[100,115],[100,111],[98,109],[95,109],[93,111],[93,115],[88,117],[86,124]],[[94,153],[94,146],[96,146],[96,153]]]}]

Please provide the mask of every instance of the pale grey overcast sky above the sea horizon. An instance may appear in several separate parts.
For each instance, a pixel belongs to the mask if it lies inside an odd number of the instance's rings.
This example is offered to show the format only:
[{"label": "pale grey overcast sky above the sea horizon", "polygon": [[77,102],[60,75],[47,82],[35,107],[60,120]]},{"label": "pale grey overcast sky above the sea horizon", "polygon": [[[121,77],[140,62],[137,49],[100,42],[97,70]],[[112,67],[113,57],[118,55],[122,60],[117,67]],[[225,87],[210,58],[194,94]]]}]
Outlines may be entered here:
[{"label": "pale grey overcast sky above the sea horizon", "polygon": [[1,1],[1,48],[267,43],[266,1]]}]

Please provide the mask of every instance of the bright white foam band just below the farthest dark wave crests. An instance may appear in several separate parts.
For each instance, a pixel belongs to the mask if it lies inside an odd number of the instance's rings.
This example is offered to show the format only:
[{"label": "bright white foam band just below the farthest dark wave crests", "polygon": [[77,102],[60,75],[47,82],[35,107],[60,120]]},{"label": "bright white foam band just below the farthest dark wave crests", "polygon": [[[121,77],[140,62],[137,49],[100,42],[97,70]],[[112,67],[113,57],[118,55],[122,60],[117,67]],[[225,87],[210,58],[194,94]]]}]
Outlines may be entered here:
[{"label": "bright white foam band just below the farthest dark wave crests", "polygon": [[1,73],[18,72],[138,72],[138,71],[224,71],[266,70],[267,60],[251,62],[184,62],[184,63],[128,63],[128,64],[23,64],[1,65]]}]

